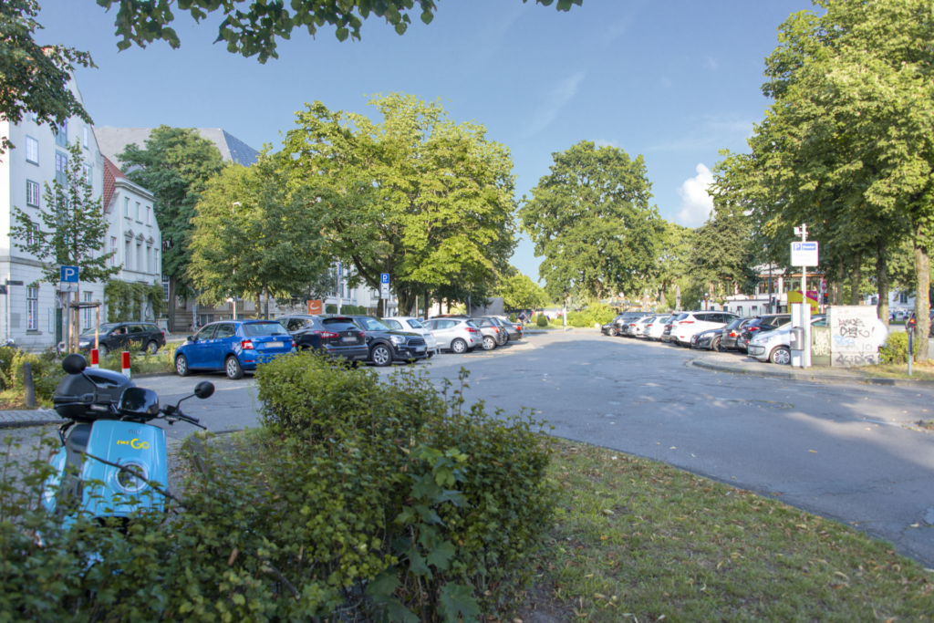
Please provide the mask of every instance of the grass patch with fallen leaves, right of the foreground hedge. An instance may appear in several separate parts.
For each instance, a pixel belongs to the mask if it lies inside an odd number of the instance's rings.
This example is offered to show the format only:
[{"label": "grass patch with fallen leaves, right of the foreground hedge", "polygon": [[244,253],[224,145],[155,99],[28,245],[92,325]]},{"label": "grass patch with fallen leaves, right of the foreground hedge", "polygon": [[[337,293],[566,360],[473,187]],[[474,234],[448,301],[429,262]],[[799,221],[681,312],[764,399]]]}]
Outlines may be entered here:
[{"label": "grass patch with fallen leaves, right of the foreground hedge", "polygon": [[934,573],[891,544],[652,460],[555,444],[559,515],[525,621],[931,620]]}]

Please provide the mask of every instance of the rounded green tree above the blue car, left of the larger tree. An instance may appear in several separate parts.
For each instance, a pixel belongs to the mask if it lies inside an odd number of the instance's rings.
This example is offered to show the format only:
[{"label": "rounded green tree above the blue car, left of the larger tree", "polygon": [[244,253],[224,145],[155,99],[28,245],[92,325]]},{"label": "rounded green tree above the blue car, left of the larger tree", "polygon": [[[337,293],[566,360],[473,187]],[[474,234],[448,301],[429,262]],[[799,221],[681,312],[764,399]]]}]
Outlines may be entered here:
[{"label": "rounded green tree above the blue car, left of the larger tree", "polygon": [[233,164],[208,180],[192,219],[191,281],[212,303],[262,293],[290,297],[310,290],[328,273],[317,220],[308,209],[314,197],[290,192],[278,158],[263,154],[250,167]]}]

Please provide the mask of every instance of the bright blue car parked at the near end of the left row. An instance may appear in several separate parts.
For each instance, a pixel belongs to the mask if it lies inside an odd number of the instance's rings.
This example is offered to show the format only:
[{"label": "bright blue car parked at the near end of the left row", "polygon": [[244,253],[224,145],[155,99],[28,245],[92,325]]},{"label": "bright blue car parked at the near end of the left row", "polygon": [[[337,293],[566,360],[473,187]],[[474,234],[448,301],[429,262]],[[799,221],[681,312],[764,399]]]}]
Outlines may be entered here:
[{"label": "bright blue car parked at the near end of the left row", "polygon": [[295,352],[295,341],[275,320],[221,320],[188,336],[176,349],[176,372],[222,370],[228,378],[242,378],[257,363]]}]

